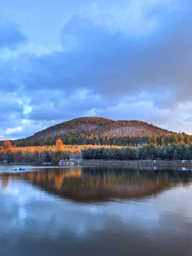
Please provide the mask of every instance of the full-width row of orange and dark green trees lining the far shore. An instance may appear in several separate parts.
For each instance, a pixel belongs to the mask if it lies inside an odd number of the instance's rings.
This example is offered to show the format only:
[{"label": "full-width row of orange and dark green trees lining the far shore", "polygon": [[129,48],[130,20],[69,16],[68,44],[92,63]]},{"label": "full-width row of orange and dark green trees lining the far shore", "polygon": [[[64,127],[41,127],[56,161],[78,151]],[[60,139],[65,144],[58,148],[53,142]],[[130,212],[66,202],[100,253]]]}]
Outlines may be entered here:
[{"label": "full-width row of orange and dark green trees lining the far shore", "polygon": [[104,160],[192,160],[192,144],[151,143],[145,146],[64,145],[58,139],[53,146],[16,147],[9,140],[0,147],[4,163],[58,163],[63,158]]}]

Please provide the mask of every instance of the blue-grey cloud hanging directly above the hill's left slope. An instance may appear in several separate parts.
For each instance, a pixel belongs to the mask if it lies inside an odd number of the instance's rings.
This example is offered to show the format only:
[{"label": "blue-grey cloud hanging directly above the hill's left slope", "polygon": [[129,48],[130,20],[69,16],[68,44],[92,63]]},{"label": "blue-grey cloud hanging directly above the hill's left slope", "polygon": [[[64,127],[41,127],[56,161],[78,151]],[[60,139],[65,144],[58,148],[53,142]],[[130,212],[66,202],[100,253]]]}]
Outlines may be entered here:
[{"label": "blue-grey cloud hanging directly above the hill's left slope", "polygon": [[54,94],[52,98],[47,95],[47,100],[41,102],[41,104],[34,104],[28,118],[58,122],[58,120],[82,116],[82,113],[93,105],[98,108],[102,106],[98,97],[85,89],[74,90],[69,95],[62,94],[62,91],[56,91]]}]

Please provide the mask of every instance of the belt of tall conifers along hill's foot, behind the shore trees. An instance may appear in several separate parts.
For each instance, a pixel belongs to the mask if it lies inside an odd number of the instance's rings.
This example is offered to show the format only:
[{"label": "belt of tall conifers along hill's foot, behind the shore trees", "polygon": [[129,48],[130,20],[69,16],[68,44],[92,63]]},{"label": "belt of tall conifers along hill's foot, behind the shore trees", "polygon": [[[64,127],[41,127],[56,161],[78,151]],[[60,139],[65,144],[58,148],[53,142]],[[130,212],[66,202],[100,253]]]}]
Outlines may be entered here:
[{"label": "belt of tall conifers along hill's foot, behind the shore trees", "polygon": [[[146,135],[146,136],[116,136],[104,134],[98,136],[97,134],[84,134],[84,133],[72,133],[62,134],[54,137],[41,137],[34,140],[29,139],[19,139],[12,140],[11,143],[17,147],[23,146],[53,146],[55,145],[58,138],[65,145],[108,145],[108,146],[145,146],[149,144],[154,144],[155,146],[169,145],[170,143],[185,143],[187,146],[192,144],[192,135],[187,135],[184,133],[179,134],[166,134],[166,135]],[[0,142],[0,145],[3,141]]]}]

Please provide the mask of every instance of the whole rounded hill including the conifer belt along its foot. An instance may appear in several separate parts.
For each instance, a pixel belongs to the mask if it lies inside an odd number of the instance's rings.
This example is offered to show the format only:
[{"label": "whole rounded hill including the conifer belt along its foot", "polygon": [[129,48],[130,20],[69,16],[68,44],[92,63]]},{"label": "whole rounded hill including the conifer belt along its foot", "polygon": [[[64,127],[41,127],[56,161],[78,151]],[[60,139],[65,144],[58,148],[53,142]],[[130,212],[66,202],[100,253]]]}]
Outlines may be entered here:
[{"label": "whole rounded hill including the conifer belt along its foot", "polygon": [[[164,146],[192,143],[192,136],[177,134],[138,120],[114,121],[103,117],[81,117],[39,131],[25,139],[13,140],[15,146],[55,145],[60,138],[66,145]],[[3,141],[0,141],[0,146]]]}]

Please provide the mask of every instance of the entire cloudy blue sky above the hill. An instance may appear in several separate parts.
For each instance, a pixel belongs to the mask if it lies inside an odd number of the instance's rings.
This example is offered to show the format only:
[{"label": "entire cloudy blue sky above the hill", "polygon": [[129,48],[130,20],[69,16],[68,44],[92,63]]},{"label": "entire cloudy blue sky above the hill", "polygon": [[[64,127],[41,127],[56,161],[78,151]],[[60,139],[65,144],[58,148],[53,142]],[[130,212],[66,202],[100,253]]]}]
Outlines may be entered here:
[{"label": "entire cloudy blue sky above the hill", "polygon": [[189,0],[7,0],[0,140],[82,116],[192,134]]}]

